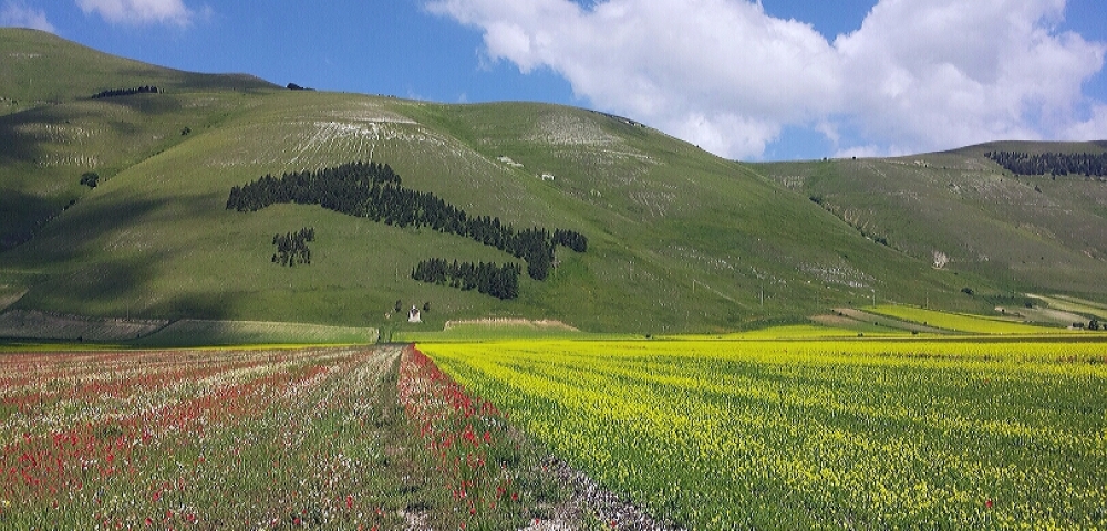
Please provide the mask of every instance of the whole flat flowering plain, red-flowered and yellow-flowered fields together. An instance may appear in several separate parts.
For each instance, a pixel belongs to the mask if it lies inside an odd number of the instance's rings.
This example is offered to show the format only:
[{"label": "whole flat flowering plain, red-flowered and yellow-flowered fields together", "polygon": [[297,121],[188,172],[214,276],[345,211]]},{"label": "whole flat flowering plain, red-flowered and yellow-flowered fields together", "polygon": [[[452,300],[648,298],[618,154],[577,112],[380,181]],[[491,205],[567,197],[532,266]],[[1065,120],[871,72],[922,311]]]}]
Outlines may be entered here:
[{"label": "whole flat flowering plain, red-flowered and yellow-flowered fields together", "polygon": [[1101,335],[816,332],[9,350],[0,529],[1107,525]]}]

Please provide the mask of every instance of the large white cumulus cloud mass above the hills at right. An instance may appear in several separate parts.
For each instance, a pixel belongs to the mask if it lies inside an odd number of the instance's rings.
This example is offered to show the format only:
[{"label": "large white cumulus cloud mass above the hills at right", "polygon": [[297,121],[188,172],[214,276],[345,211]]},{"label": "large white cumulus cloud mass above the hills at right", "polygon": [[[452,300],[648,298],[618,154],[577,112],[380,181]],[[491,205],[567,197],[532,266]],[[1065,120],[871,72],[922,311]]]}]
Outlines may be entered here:
[{"label": "large white cumulus cloud mass above the hills at right", "polygon": [[[596,106],[723,156],[756,158],[786,126],[840,153],[1076,134],[1103,43],[1058,32],[1064,0],[880,0],[829,40],[747,0],[434,0],[484,53],[547,67]],[[849,129],[849,134],[842,133]],[[842,144],[839,144],[842,143]]]}]

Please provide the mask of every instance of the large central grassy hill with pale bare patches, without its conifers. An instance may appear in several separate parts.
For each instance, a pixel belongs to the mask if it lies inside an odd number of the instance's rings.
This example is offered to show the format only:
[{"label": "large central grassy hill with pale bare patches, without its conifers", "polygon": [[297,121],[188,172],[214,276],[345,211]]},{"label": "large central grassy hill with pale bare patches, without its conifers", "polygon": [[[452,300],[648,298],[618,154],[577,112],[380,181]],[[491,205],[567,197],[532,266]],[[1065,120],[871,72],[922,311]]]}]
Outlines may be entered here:
[{"label": "large central grassy hill with pale bare patches, without its conifers", "polygon": [[[80,165],[35,164],[15,149],[0,154],[7,157],[0,164],[6,190],[54,179],[65,191],[39,196],[64,202],[69,190],[80,192],[53,221],[28,222],[37,230],[31,241],[0,254],[3,290],[30,288],[14,308],[371,325],[385,335],[486,316],[673,333],[796,322],[821,309],[873,300],[986,308],[959,291],[966,282],[987,288],[990,281],[977,277],[987,270],[937,271],[929,258],[873,243],[807,200],[805,191],[762,176],[775,175],[773,167],[723,160],[629,121],[542,104],[452,106],[242,92],[214,79],[179,86],[161,95],[66,101],[0,118],[8,121],[0,122],[0,134],[18,140],[9,145],[103,159],[111,177],[84,191],[75,184],[85,170]],[[27,133],[71,126],[94,134]],[[180,135],[183,127],[192,134]],[[519,300],[500,302],[408,279],[411,268],[430,257],[511,259],[468,240],[318,207],[224,209],[234,185],[356,159],[386,162],[407,186],[434,191],[470,215],[579,230],[590,239],[589,252],[561,251],[552,279],[524,280]],[[801,165],[813,167],[818,169]],[[540,179],[544,173],[555,179]],[[318,235],[313,263],[270,264],[272,235],[304,226]],[[427,323],[391,319],[396,300],[405,306],[430,302]]]}]

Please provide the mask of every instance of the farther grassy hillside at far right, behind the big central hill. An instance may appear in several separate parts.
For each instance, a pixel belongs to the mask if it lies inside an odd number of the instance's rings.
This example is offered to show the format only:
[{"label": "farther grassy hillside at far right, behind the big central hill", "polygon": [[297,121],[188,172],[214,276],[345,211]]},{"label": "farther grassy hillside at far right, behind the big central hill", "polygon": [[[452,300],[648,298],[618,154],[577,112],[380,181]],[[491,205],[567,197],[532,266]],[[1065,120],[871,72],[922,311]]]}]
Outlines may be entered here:
[{"label": "farther grassy hillside at far right, behind the big central hill", "polygon": [[[898,159],[758,165],[818,196],[838,217],[920,260],[945,253],[953,271],[1002,290],[1094,293],[1107,284],[1107,184],[1083,176],[1005,173],[987,150],[1101,153],[1101,143],[994,143]],[[972,285],[966,282],[966,285]]]}]

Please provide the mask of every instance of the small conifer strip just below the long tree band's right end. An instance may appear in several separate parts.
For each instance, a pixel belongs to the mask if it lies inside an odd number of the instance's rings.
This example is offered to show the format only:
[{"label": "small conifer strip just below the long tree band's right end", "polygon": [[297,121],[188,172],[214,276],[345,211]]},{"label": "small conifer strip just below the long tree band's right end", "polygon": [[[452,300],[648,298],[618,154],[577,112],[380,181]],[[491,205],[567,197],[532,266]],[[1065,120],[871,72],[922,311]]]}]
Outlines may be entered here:
[{"label": "small conifer strip just below the long tree band's right end", "polygon": [[418,262],[412,270],[412,279],[439,285],[452,285],[463,291],[477,290],[497,299],[516,299],[519,296],[519,273],[523,269],[517,263],[453,263],[441,258],[432,258]]}]

